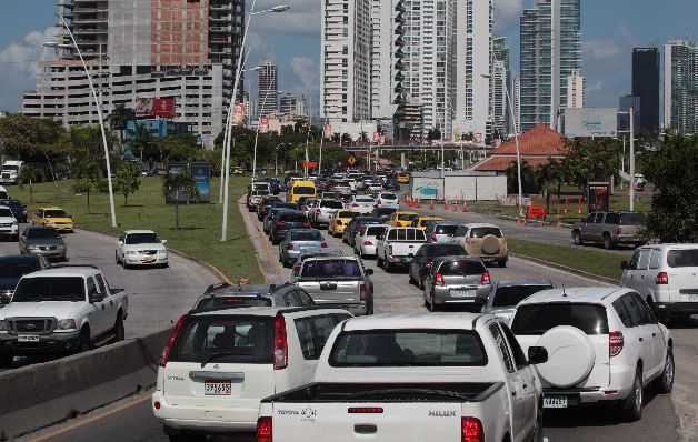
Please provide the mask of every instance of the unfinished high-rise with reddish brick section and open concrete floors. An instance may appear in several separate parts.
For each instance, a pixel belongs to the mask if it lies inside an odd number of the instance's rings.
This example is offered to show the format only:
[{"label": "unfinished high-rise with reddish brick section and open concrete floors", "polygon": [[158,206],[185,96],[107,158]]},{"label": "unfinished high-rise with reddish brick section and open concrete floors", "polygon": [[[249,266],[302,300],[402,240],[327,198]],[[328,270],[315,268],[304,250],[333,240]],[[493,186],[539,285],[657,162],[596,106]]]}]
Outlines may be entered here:
[{"label": "unfinished high-rise with reddish brick section and open concrete floors", "polygon": [[[61,0],[64,17],[100,91],[103,114],[138,98],[176,100],[186,122],[212,148],[222,131],[240,57],[245,0]],[[72,46],[62,20],[58,43]],[[96,124],[98,109],[76,49],[40,62],[22,113],[63,125]],[[242,87],[240,86],[240,89]]]}]

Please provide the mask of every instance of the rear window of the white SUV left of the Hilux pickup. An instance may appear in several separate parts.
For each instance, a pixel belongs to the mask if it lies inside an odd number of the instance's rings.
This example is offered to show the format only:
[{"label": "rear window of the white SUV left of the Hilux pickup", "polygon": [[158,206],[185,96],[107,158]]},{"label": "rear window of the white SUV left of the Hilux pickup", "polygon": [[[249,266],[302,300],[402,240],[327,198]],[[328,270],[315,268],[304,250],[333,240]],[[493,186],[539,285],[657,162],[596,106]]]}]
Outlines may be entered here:
[{"label": "rear window of the white SUV left of the Hilux pickup", "polygon": [[272,363],[273,319],[249,315],[191,317],[178,334],[170,361]]}]

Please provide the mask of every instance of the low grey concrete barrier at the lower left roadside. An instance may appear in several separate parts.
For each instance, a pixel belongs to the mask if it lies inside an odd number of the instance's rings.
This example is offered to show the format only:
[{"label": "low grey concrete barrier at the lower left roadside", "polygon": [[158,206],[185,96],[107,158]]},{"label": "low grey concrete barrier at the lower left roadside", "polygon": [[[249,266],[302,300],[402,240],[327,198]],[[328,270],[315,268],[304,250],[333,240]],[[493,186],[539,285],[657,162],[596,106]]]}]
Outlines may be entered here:
[{"label": "low grey concrete barrier at the lower left roadside", "polygon": [[51,425],[156,383],[170,330],[0,373],[0,440]]}]

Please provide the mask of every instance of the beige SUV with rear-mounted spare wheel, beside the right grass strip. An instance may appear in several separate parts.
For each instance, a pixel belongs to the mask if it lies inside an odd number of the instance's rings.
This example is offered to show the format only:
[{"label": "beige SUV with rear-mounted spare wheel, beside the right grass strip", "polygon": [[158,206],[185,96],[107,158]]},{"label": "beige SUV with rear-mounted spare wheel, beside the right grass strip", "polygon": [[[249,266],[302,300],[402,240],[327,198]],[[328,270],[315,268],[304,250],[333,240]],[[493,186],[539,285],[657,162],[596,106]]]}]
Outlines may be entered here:
[{"label": "beige SUV with rear-mounted spare wheel, beside the right grass strip", "polygon": [[498,225],[460,224],[451,237],[451,243],[462,245],[470,257],[478,257],[486,262],[496,262],[499,267],[507,267],[509,248]]}]

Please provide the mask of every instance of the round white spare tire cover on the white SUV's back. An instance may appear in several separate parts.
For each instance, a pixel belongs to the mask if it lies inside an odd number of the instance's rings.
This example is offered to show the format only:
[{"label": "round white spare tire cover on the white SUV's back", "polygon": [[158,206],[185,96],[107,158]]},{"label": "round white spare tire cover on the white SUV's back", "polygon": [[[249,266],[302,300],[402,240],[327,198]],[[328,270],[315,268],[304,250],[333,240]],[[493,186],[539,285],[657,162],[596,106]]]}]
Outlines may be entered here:
[{"label": "round white spare tire cover on the white SUV's back", "polygon": [[548,330],[536,344],[548,351],[548,362],[536,365],[550,385],[572,386],[589,375],[596,360],[591,340],[576,327],[559,325]]}]

